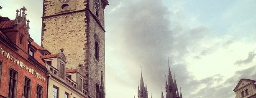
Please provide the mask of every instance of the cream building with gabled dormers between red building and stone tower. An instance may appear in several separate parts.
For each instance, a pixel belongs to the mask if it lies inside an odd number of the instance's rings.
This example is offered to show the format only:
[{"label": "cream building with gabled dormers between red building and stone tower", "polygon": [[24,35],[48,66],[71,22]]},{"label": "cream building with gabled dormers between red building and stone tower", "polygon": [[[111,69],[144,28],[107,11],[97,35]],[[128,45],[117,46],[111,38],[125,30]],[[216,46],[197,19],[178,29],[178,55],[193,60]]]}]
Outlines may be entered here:
[{"label": "cream building with gabled dormers between red building and stone tower", "polygon": [[83,86],[82,72],[79,68],[66,70],[66,56],[60,53],[41,57],[48,70],[47,87],[50,98],[88,98]]}]

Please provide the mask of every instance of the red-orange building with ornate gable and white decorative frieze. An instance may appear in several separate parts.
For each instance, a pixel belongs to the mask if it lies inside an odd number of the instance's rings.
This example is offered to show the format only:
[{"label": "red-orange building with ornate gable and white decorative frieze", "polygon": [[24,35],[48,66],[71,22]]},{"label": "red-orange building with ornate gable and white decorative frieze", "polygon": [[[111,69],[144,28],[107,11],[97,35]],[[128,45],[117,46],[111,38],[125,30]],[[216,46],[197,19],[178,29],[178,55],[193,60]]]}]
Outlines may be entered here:
[{"label": "red-orange building with ornate gable and white decorative frieze", "polygon": [[25,11],[16,10],[15,20],[0,17],[0,98],[46,98],[47,70],[40,56],[48,51],[29,37]]}]

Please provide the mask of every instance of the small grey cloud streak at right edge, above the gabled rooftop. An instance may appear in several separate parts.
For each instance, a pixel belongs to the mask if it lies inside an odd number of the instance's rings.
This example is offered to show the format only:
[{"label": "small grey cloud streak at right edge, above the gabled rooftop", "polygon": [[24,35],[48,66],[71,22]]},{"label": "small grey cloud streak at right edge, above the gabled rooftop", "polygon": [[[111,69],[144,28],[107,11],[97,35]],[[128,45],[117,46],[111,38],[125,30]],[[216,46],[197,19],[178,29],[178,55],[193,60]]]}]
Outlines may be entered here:
[{"label": "small grey cloud streak at right edge, above the gabled rooftop", "polygon": [[252,60],[255,58],[256,53],[254,51],[248,53],[248,57],[245,60],[237,60],[234,65],[241,65],[241,64],[247,64],[251,63]]}]

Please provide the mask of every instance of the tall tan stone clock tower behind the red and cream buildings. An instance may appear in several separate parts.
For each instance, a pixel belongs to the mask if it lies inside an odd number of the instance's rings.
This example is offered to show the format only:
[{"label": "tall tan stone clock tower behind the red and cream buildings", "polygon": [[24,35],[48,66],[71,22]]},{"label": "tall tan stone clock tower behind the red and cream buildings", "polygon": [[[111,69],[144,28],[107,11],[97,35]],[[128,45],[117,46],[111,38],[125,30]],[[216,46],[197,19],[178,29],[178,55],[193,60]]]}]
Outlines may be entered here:
[{"label": "tall tan stone clock tower behind the red and cream buildings", "polygon": [[104,9],[108,0],[44,0],[41,46],[63,48],[68,69],[84,66],[83,88],[99,98],[101,66],[105,82]]}]

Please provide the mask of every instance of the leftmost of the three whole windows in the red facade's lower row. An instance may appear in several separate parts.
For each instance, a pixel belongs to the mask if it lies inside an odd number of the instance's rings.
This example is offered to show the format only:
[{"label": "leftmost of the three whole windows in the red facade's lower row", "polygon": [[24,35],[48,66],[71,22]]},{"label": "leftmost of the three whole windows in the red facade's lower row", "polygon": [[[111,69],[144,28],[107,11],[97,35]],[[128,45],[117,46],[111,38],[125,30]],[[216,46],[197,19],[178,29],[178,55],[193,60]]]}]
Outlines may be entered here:
[{"label": "leftmost of the three whole windows in the red facade's lower row", "polygon": [[17,85],[17,75],[18,75],[18,72],[13,70],[13,69],[10,69],[10,79],[9,79],[9,94],[8,94],[8,97],[9,98],[16,98],[15,95],[16,95],[16,85]]}]

